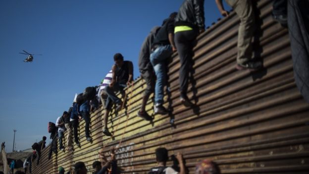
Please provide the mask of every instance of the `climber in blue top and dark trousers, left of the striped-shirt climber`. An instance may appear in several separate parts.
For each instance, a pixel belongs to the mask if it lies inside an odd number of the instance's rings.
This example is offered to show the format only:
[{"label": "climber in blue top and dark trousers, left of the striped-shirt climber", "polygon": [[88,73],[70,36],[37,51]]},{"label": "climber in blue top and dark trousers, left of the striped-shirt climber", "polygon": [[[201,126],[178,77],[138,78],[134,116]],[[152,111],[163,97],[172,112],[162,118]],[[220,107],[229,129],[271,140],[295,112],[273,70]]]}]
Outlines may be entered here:
[{"label": "climber in blue top and dark trousers, left of the striped-shirt climber", "polygon": [[90,101],[86,100],[81,106],[80,106],[80,116],[79,119],[84,119],[85,120],[85,134],[86,134],[86,139],[88,142],[92,141],[92,138],[90,137]]}]

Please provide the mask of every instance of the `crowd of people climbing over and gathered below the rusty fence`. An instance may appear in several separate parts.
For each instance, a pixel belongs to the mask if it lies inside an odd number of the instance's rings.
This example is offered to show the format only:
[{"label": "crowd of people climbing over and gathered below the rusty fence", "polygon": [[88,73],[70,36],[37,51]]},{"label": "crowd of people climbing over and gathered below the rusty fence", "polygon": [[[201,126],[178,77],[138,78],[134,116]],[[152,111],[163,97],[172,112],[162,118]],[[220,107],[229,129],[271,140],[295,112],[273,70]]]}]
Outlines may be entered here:
[{"label": "crowd of people climbing over and gathered below the rusty fence", "polygon": [[[253,4],[251,0],[225,0],[240,18],[237,44],[238,70],[256,71],[262,67],[262,61],[253,56],[253,36],[256,21]],[[220,13],[229,16],[229,12],[223,7],[222,0],[215,0]],[[273,18],[286,26],[287,19],[287,0],[274,0]],[[167,60],[177,52],[180,58],[179,86],[180,102],[185,107],[192,107],[195,104],[187,96],[189,74],[193,68],[193,48],[197,44],[196,38],[205,31],[204,0],[184,0],[178,12],[172,12],[168,18],[164,19],[161,26],[155,26],[150,34],[145,38],[139,54],[139,71],[142,78],[146,81],[146,89],[143,94],[142,104],[137,116],[151,121],[154,119],[146,111],[149,97],[154,93],[154,114],[165,115],[169,111],[164,104],[164,86],[167,77]],[[63,112],[62,116],[56,119],[56,123],[51,127],[52,146],[50,151],[57,153],[57,140],[59,140],[59,150],[65,150],[63,144],[64,131],[67,131],[66,150],[73,150],[73,137],[75,144],[80,147],[78,128],[81,119],[85,120],[85,135],[88,142],[92,142],[90,132],[90,113],[98,109],[101,105],[105,109],[103,134],[112,136],[108,130],[108,116],[114,106],[115,111],[123,109],[126,101],[117,97],[116,93],[124,95],[124,88],[133,85],[133,63],[124,60],[122,54],[117,53],[113,57],[114,64],[106,74],[101,84],[97,87],[88,87],[79,95],[75,95],[74,102],[68,111]],[[124,99],[125,100],[125,99]],[[52,126],[52,124],[51,124]],[[50,128],[49,128],[50,130]],[[24,163],[25,173],[27,167],[37,158],[39,164],[41,151],[45,148],[46,137],[33,146],[35,150]],[[179,172],[171,167],[166,167],[168,152],[165,148],[155,150],[157,166],[152,168],[149,174],[185,174],[185,165],[182,154],[177,154],[176,159],[179,164]],[[49,158],[50,158],[49,157]],[[118,174],[121,170],[117,167],[115,159],[115,149],[110,152],[110,160],[107,160],[103,152],[100,152],[101,162],[93,163],[94,174]],[[87,170],[83,162],[74,165],[75,174],[86,174]],[[219,174],[220,170],[215,163],[204,160],[196,167],[196,174]],[[64,174],[64,169],[59,168],[59,174]],[[68,172],[70,173],[71,170]]]}]

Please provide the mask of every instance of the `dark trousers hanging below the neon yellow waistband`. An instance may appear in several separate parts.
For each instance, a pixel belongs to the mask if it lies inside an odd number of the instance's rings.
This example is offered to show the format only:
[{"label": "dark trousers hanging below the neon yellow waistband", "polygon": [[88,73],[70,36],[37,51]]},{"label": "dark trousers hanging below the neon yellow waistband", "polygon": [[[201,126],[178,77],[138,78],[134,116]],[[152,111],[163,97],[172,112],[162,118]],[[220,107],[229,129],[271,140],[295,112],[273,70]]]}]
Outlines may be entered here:
[{"label": "dark trousers hanging below the neon yellow waistband", "polygon": [[180,58],[179,83],[181,97],[187,96],[189,72],[192,69],[193,47],[196,44],[198,32],[195,30],[180,31],[175,33],[175,44]]}]

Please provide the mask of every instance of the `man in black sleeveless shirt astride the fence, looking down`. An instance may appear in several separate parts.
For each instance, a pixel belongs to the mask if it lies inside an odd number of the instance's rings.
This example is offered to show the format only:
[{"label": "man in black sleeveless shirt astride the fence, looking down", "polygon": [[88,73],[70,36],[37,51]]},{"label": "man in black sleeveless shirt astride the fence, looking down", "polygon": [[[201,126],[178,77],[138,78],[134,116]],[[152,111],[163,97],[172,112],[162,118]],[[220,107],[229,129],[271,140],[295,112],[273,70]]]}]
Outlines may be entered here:
[{"label": "man in black sleeveless shirt astride the fence, looking down", "polygon": [[[105,102],[105,114],[104,114],[104,129],[103,133],[106,136],[111,136],[108,131],[107,122],[108,115],[111,111],[112,103],[116,105],[116,111],[120,111],[122,107],[121,100],[116,96],[117,91],[122,91],[127,85],[131,85],[133,81],[133,63],[128,60],[123,60],[123,56],[120,53],[114,55],[115,64],[112,66],[112,79],[108,86],[104,88],[107,100]],[[125,101],[124,101],[125,102]]]}]

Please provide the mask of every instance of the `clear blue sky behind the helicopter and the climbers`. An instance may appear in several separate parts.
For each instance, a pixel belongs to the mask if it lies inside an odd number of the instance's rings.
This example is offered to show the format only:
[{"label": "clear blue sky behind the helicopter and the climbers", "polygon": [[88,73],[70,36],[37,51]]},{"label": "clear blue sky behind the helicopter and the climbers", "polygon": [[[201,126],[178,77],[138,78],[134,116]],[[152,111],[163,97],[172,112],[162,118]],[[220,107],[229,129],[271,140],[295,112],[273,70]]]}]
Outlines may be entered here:
[{"label": "clear blue sky behind the helicopter and the climbers", "polygon": [[[133,62],[137,78],[145,37],[182,1],[0,0],[0,142],[6,151],[12,151],[13,129],[16,150],[49,137],[48,122],[68,110],[75,93],[100,83],[115,53]],[[219,17],[214,0],[205,0],[206,26]],[[43,56],[25,63],[22,50]]]}]

